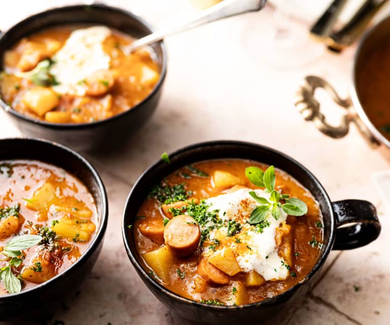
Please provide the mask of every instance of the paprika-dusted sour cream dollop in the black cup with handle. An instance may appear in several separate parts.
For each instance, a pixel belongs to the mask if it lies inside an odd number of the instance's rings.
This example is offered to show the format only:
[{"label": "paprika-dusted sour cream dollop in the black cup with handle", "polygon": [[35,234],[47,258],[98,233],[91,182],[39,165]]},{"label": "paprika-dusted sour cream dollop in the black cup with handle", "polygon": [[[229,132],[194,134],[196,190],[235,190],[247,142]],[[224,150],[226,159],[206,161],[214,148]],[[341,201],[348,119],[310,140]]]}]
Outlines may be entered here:
[{"label": "paprika-dusted sour cream dollop in the black cup with handle", "polygon": [[[246,223],[252,211],[259,206],[259,203],[249,194],[252,189],[243,188],[232,193],[221,194],[206,199],[210,204],[208,210],[219,210],[218,215],[222,220],[235,220],[242,224],[242,230],[236,237],[241,243],[230,244],[236,254],[236,259],[244,272],[256,271],[269,280],[285,280],[289,274],[283,258],[278,255],[278,247],[275,240],[276,228],[286,221],[287,214],[280,209],[280,218],[276,220],[271,213],[268,213],[265,222],[269,223],[262,232]],[[269,198],[269,193],[263,190],[254,190],[257,196]],[[207,226],[207,225],[206,225]],[[225,229],[223,229],[225,228]],[[221,230],[227,230],[222,227]],[[216,230],[210,234],[213,239]]]}]

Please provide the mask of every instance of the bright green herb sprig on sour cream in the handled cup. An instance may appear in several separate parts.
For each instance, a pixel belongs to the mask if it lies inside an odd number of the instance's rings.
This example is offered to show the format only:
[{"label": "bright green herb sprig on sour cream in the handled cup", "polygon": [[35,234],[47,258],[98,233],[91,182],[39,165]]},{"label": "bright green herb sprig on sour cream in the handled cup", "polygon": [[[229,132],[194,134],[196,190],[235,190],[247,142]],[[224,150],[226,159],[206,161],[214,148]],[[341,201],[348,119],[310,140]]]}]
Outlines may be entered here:
[{"label": "bright green herb sprig on sour cream in the handled cup", "polygon": [[[260,203],[253,211],[249,218],[250,224],[258,224],[263,222],[268,213],[271,212],[272,216],[279,220],[280,209],[282,208],[285,213],[290,216],[303,216],[308,212],[306,203],[296,197],[289,197],[288,194],[281,194],[275,190],[275,167],[269,166],[265,172],[260,168],[251,166],[245,169],[245,175],[254,185],[258,187],[265,187],[265,191],[270,193],[269,198],[259,197],[255,191],[249,192],[249,194]],[[285,200],[282,204],[280,200]]]}]

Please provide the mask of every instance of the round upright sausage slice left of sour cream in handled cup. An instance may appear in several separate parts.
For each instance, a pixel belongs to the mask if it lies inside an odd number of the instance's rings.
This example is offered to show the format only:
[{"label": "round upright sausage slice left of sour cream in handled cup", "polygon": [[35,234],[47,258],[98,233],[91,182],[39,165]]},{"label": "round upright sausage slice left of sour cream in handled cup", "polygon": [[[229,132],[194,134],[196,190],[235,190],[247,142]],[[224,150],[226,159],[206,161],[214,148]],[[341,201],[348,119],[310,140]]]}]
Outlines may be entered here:
[{"label": "round upright sausage slice left of sour cream in handled cup", "polygon": [[174,217],[165,226],[164,240],[175,255],[191,255],[200,242],[199,225],[187,215]]}]

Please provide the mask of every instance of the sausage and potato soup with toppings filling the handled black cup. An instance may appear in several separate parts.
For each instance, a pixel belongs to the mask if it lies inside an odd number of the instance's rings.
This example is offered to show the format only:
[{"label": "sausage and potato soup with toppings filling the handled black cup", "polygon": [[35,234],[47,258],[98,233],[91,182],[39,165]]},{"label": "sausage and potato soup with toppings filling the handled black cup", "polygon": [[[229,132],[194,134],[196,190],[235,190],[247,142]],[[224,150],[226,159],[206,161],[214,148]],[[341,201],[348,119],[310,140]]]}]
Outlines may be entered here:
[{"label": "sausage and potato soup with toppings filling the handled black cup", "polygon": [[151,276],[212,305],[259,302],[298,283],[319,257],[322,227],[318,203],[291,176],[236,159],[177,170],[129,225]]}]

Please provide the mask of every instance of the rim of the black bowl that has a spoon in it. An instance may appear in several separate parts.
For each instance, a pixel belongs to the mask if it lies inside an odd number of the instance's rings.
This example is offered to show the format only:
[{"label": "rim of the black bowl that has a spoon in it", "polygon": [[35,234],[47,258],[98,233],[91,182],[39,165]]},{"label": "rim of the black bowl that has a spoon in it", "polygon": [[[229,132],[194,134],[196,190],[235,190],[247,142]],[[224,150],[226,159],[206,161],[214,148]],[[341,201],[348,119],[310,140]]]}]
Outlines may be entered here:
[{"label": "rim of the black bowl that has a spoon in it", "polygon": [[[149,31],[151,33],[154,32],[154,28],[151,26],[151,24],[149,24],[143,18],[133,14],[132,12],[130,12],[128,10],[125,10],[125,9],[122,9],[122,8],[117,8],[117,7],[112,7],[112,6],[107,6],[107,5],[104,5],[104,4],[92,4],[92,5],[65,6],[65,7],[53,8],[53,9],[41,11],[41,12],[39,12],[37,14],[34,14],[32,16],[29,16],[29,17],[19,21],[18,23],[13,25],[11,28],[9,28],[7,31],[3,32],[3,34],[0,33],[0,40],[9,31],[12,31],[12,29],[18,28],[19,25],[28,23],[31,20],[39,19],[40,16],[45,16],[45,15],[48,15],[48,14],[50,14],[52,12],[65,11],[65,10],[69,10],[69,9],[79,9],[79,8],[85,8],[85,7],[87,7],[87,8],[93,7],[93,8],[101,8],[101,9],[110,9],[110,10],[113,10],[113,11],[121,12],[121,13],[126,14],[126,15],[130,16],[131,18],[137,20],[141,24],[143,24],[146,28],[149,29]],[[85,23],[88,23],[88,22],[85,22]],[[66,23],[63,23],[63,25],[65,25],[65,24]],[[61,25],[61,22],[58,22],[58,25]],[[125,33],[125,34],[130,35],[128,33]],[[29,123],[38,124],[38,125],[40,125],[42,127],[45,127],[45,128],[56,129],[56,130],[87,129],[87,128],[95,127],[97,125],[103,125],[103,124],[106,124],[106,123],[110,123],[111,121],[114,121],[116,119],[120,119],[123,115],[129,114],[130,112],[132,112],[135,109],[140,109],[140,107],[145,102],[147,102],[149,99],[151,99],[155,95],[155,93],[160,89],[162,83],[165,80],[165,77],[166,77],[166,74],[167,74],[167,50],[166,50],[166,46],[165,46],[165,43],[164,43],[163,40],[159,41],[159,42],[156,42],[156,43],[159,43],[159,45],[161,46],[161,51],[162,51],[162,55],[161,55],[162,56],[162,67],[161,67],[159,81],[157,82],[157,84],[153,88],[152,92],[149,95],[147,95],[142,101],[140,101],[138,104],[134,105],[133,107],[131,107],[130,109],[128,109],[128,110],[126,110],[126,111],[124,111],[122,113],[119,113],[119,114],[116,114],[116,115],[114,115],[112,117],[109,117],[108,119],[95,121],[95,122],[87,122],[87,123],[65,123],[65,124],[52,123],[52,122],[46,122],[46,121],[34,119],[34,117],[30,117],[28,115],[25,115],[23,113],[18,112],[17,110],[13,109],[11,105],[8,105],[7,103],[5,103],[3,101],[3,99],[1,98],[1,96],[0,96],[0,106],[2,106],[2,108],[5,110],[5,112],[12,114],[12,115],[18,117],[19,119],[22,119],[22,120],[24,120],[26,122],[29,122]]]}]

